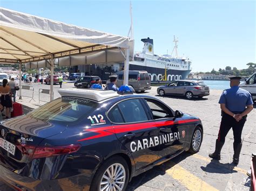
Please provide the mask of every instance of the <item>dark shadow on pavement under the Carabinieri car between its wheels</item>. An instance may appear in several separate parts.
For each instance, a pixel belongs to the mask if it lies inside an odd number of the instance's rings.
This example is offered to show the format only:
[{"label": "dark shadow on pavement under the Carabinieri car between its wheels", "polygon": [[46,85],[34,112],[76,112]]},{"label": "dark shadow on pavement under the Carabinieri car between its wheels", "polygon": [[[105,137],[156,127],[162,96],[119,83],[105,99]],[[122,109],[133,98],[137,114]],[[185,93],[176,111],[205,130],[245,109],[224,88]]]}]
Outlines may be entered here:
[{"label": "dark shadow on pavement under the Carabinieri car between its wheels", "polygon": [[158,175],[164,175],[168,169],[172,168],[174,165],[178,164],[180,161],[185,160],[190,155],[191,153],[183,152],[177,157],[169,161],[166,161],[161,165],[153,167],[149,171],[139,174],[138,176],[134,176],[131,182],[128,183],[126,191],[133,191],[134,189],[144,185],[146,182],[156,178]]}]

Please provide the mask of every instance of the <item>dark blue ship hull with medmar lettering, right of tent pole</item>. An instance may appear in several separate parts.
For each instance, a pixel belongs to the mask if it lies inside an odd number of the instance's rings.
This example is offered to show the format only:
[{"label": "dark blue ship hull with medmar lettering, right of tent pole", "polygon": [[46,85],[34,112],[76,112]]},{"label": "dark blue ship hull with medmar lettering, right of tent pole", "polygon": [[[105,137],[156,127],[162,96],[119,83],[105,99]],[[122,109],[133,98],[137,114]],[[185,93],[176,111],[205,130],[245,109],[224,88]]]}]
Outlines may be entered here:
[{"label": "dark blue ship hull with medmar lettering, right of tent pole", "polygon": [[129,70],[145,70],[150,75],[151,82],[161,82],[161,81],[175,81],[175,80],[185,80],[187,75],[191,72],[191,70],[174,70],[167,69],[166,70],[166,80],[165,80],[165,69],[164,68],[155,68],[149,66],[139,66],[133,65],[130,63]]}]

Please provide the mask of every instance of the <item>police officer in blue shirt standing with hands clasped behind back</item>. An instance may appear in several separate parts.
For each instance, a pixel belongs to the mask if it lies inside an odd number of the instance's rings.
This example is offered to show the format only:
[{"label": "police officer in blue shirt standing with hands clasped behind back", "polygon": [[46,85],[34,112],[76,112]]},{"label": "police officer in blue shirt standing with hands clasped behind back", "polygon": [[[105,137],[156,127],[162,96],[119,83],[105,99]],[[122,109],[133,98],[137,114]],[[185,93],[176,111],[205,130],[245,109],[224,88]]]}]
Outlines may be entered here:
[{"label": "police officer in blue shirt standing with hands clasped behind back", "polygon": [[246,116],[253,109],[253,101],[251,94],[239,88],[240,76],[231,76],[230,89],[223,91],[220,96],[221,108],[221,123],[219,129],[218,139],[215,144],[214,153],[209,154],[209,157],[220,160],[220,151],[225,143],[225,137],[228,131],[232,128],[234,135],[234,155],[233,164],[237,165],[239,162],[239,155],[242,148],[241,134],[244,127]]}]

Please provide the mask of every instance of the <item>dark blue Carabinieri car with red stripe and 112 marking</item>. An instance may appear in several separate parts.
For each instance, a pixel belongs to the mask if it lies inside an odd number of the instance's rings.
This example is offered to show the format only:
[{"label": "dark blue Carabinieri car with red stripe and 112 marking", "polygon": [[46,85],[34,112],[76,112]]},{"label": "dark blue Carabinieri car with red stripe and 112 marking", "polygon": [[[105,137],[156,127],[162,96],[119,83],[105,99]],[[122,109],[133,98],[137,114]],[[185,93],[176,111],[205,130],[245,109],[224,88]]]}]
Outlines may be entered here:
[{"label": "dark blue Carabinieri car with red stripe and 112 marking", "polygon": [[0,126],[0,177],[16,189],[125,190],[133,176],[196,153],[199,118],[157,98],[91,89],[62,97]]}]

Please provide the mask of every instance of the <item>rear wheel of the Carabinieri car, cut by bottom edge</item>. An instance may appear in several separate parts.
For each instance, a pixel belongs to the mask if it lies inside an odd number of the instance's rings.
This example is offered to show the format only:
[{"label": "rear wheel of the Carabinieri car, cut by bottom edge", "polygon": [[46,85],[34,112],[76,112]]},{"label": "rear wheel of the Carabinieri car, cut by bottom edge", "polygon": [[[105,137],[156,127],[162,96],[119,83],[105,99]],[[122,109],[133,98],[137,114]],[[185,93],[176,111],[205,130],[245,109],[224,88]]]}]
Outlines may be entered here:
[{"label": "rear wheel of the Carabinieri car, cut by bottom edge", "polygon": [[90,190],[125,190],[129,180],[129,167],[119,156],[106,160],[92,180]]}]

